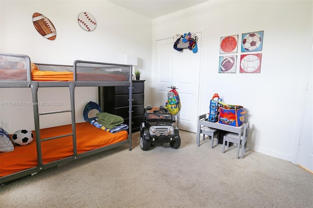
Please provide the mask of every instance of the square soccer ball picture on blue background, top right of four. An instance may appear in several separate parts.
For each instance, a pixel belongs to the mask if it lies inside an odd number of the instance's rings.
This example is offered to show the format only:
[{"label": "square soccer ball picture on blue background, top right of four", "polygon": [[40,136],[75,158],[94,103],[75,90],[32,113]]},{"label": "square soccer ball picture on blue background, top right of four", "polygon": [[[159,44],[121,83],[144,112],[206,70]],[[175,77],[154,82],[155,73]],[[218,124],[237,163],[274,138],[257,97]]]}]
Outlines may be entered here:
[{"label": "square soccer ball picture on blue background, top right of four", "polygon": [[241,52],[262,51],[263,30],[251,33],[243,33]]}]

